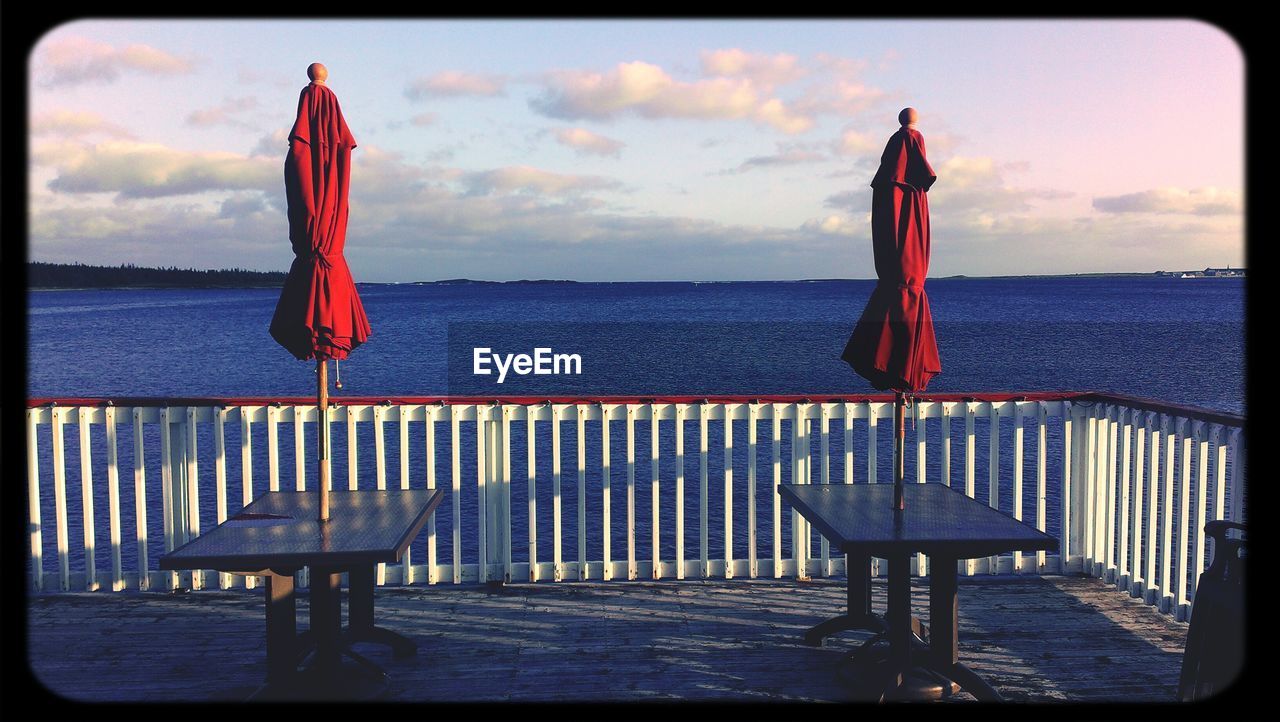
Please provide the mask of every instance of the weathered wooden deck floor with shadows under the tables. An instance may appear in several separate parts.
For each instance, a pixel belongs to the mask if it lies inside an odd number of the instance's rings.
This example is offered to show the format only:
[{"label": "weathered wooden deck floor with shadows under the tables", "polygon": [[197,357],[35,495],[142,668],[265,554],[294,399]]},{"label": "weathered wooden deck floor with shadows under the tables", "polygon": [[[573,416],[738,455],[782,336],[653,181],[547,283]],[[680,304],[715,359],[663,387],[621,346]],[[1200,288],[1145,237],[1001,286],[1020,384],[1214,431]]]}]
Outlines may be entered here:
[{"label": "weathered wooden deck floor with shadows under the tables", "polygon": [[[420,645],[358,648],[394,702],[846,700],[838,662],[869,636],[800,643],[842,609],[841,579],[387,588],[376,604]],[[265,671],[261,589],[44,594],[27,612],[32,671],[76,700],[243,699]],[[1010,700],[1170,702],[1185,636],[1098,580],[960,582],[961,661]]]}]

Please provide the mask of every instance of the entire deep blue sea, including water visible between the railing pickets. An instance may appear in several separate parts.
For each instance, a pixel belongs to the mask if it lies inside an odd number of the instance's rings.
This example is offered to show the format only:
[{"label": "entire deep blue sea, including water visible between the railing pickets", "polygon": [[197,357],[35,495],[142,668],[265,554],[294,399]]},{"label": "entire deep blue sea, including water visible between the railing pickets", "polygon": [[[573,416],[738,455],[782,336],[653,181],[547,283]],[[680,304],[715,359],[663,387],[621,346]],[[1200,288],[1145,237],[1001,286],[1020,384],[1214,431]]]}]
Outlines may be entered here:
[{"label": "entire deep blue sea, including water visible between the railing pickets", "polygon": [[[1144,397],[1166,403],[1198,406],[1231,413],[1245,412],[1245,280],[1179,279],[1157,275],[1028,277],[1028,278],[943,278],[927,285],[934,330],[942,358],[942,373],[929,384],[933,393],[1097,390]],[[411,396],[713,396],[713,394],[859,394],[877,393],[841,361],[840,353],[854,324],[874,288],[873,280],[794,280],[794,282],[654,282],[654,283],[576,283],[576,282],[435,282],[399,284],[360,284],[358,291],[372,326],[370,339],[340,364],[342,389],[332,393],[353,397]],[[314,362],[293,358],[269,335],[278,289],[76,289],[31,291],[27,296],[27,396],[58,397],[310,397],[315,394]],[[538,349],[554,358],[577,358],[562,366],[548,362],[552,371],[532,373]],[[486,349],[480,352],[477,349]],[[526,355],[532,364],[520,373],[508,364],[498,373],[498,360]],[[488,358],[488,361],[485,361]],[[545,360],[545,358],[544,358]],[[489,373],[480,373],[488,370]],[[929,451],[924,460],[929,480],[938,480],[941,466],[937,420],[922,421]],[[518,425],[516,425],[518,426]],[[545,426],[545,425],[544,425]],[[586,480],[588,552],[600,558],[599,507],[603,471],[598,424],[588,426],[584,439],[589,448]],[[660,540],[663,558],[673,554],[675,453],[671,424],[660,428],[662,494]],[[883,424],[882,426],[888,426]],[[963,424],[952,425],[952,448],[960,445]],[[1001,443],[1012,443],[1012,424],[1000,428]],[[762,426],[762,434],[765,428]],[[686,520],[698,520],[699,454],[696,422],[685,434]],[[612,434],[611,456],[614,529],[611,530],[613,557],[625,558],[627,470],[625,434]],[[732,458],[735,485],[733,553],[745,557],[746,439],[745,421],[735,422],[733,438],[740,443]],[[524,431],[512,438],[512,469],[525,469]],[[548,434],[543,429],[539,434]],[[909,438],[916,431],[908,430]],[[198,497],[205,527],[215,524],[215,484],[212,483],[212,439],[204,429],[197,438]],[[238,424],[227,433],[229,512],[239,508],[243,477]],[[576,428],[563,429],[564,465],[572,470],[576,458]],[[810,429],[817,434],[817,429]],[[979,435],[986,428],[979,429]],[[520,438],[516,438],[520,435]],[[855,481],[865,481],[865,429],[855,440]],[[159,438],[148,425],[143,439],[142,469],[146,476],[148,556],[164,552],[160,526]],[[314,433],[303,440],[303,453],[314,454]],[[360,453],[372,454],[372,430],[358,435]],[[388,454],[388,484],[399,485],[399,442],[394,425],[384,431]],[[421,422],[410,442],[410,484],[425,484],[425,434]],[[710,429],[708,475],[709,556],[723,558],[723,430]],[[1029,434],[1028,437],[1034,437]],[[334,477],[347,479],[344,429],[333,430]],[[549,449],[549,438],[539,437],[539,448]],[[840,433],[831,434],[833,479],[844,477]],[[99,520],[95,533],[95,567],[110,568],[110,539],[106,524],[108,492],[104,460],[106,449],[101,426],[92,429],[92,462],[87,479],[88,495]],[[136,497],[132,429],[120,426],[118,458],[120,472],[120,521],[125,539],[133,539]],[[447,425],[436,437],[448,449]],[[451,529],[463,529],[463,562],[475,561],[475,447],[474,438],[460,442],[463,448],[462,475],[470,471],[470,489],[463,484],[461,520],[452,518],[447,499],[436,515],[440,563],[452,558]],[[888,479],[892,440],[888,429],[876,439],[883,469],[878,480]],[[1033,443],[1028,440],[1027,443]],[[1048,467],[1060,469],[1060,429],[1048,433]],[[83,539],[84,509],[79,506],[86,480],[81,477],[78,434],[68,433],[68,525],[72,570],[83,570],[87,554]],[[307,445],[311,444],[311,445]],[[545,444],[545,445],[543,445]],[[648,558],[650,511],[648,503],[649,434],[637,429],[635,453],[639,480],[635,486],[636,550]],[[767,465],[771,444],[760,444],[758,461]],[[255,439],[252,494],[266,490],[265,437]],[[37,434],[41,470],[41,518],[44,571],[56,570],[54,501],[50,477],[51,438],[47,426]],[[814,442],[817,452],[817,442]],[[1009,447],[1004,447],[1009,448]],[[914,445],[909,447],[908,476],[914,477]],[[987,498],[987,438],[979,438],[978,497]],[[954,452],[959,453],[959,452]],[[294,483],[294,434],[289,424],[280,428],[282,488]],[[518,458],[517,458],[518,457]],[[543,561],[549,559],[550,509],[549,453],[539,452],[536,463],[543,481],[535,486],[538,499],[538,547]],[[998,504],[1012,511],[1012,462],[1000,457]],[[1027,453],[1032,463],[1034,453]],[[310,457],[308,457],[310,458]],[[790,474],[790,433],[783,433],[785,476]],[[436,454],[436,477],[448,485],[449,454]],[[1056,465],[1056,466],[1055,466]],[[361,488],[372,486],[375,463],[361,457]],[[813,471],[817,474],[817,467]],[[964,466],[951,463],[952,485]],[[545,467],[545,469],[544,469]],[[767,466],[762,466],[765,469]],[[1030,466],[1027,467],[1034,479]],[[541,476],[543,474],[547,476]],[[512,494],[527,495],[524,474],[516,474]],[[576,474],[566,472],[562,508],[576,508]],[[788,481],[785,477],[783,481]],[[314,471],[307,477],[314,488]],[[1056,485],[1050,485],[1048,527],[1057,524]],[[1024,494],[1025,504],[1034,504]],[[772,488],[756,488],[759,548],[762,557],[772,554]],[[527,529],[524,503],[513,503],[512,524]],[[1024,511],[1034,518],[1033,506]],[[741,516],[740,516],[741,515]],[[564,554],[575,558],[577,529],[575,515],[566,512]],[[790,548],[790,515],[783,515],[783,539]],[[425,533],[424,533],[425,534]],[[527,558],[527,533],[512,535],[517,559]],[[817,540],[817,536],[814,538]],[[817,543],[817,542],[815,542]],[[415,542],[415,563],[422,561],[425,536]],[[686,525],[690,558],[699,554],[698,525]],[[620,552],[620,549],[622,552]],[[124,568],[137,563],[136,544],[122,545]]]}]

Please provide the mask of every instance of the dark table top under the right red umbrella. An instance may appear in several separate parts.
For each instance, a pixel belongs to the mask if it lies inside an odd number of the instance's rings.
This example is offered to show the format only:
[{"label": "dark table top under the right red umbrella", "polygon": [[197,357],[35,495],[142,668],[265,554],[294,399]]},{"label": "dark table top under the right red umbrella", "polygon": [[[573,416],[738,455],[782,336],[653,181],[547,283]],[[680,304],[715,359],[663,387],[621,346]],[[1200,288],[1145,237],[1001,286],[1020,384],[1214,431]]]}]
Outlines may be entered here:
[{"label": "dark table top under the right red umbrella", "polygon": [[1057,540],[942,484],[781,484],[778,494],[845,553],[920,552],[970,559],[1002,552],[1052,552]]}]

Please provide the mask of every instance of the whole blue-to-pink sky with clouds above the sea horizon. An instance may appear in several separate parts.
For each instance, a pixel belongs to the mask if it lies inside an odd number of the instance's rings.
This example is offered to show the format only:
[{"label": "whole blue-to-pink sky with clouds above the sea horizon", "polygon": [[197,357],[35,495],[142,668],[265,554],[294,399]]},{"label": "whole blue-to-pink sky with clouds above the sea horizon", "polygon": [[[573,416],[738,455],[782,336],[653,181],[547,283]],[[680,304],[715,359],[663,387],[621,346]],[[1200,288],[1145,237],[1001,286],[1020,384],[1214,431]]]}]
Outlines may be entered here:
[{"label": "whole blue-to-pink sky with clouds above the sea horizon", "polygon": [[287,270],[312,61],[358,282],[874,278],[904,106],[929,275],[1244,262],[1244,58],[1198,20],[76,20],[28,55],[32,261]]}]

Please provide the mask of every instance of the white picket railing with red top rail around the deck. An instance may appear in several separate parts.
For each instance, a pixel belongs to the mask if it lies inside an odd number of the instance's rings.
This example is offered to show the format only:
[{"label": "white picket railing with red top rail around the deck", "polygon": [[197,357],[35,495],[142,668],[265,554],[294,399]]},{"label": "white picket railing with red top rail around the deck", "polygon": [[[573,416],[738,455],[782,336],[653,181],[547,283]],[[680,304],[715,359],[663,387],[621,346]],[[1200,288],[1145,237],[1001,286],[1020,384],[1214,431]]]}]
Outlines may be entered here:
[{"label": "white picket railing with red top rail around the deck", "polygon": [[[293,431],[292,488],[315,489],[317,407],[302,399],[177,401],[29,402],[32,589],[255,585],[253,577],[211,571],[161,572],[154,561],[261,492],[291,486],[282,475],[289,452],[282,425]],[[330,448],[338,442],[329,462],[342,460],[344,445],[346,488],[387,488],[393,445],[393,483],[439,486],[449,497],[402,563],[379,566],[378,584],[840,575],[842,556],[782,503],[777,485],[892,480],[890,397],[338,401],[329,410]],[[909,481],[946,481],[1059,539],[1057,553],[970,559],[969,575],[1084,572],[1185,618],[1208,562],[1204,522],[1243,520],[1244,438],[1236,416],[1102,394],[937,394],[916,399],[909,420]],[[397,431],[392,444],[388,425]],[[76,426],[77,443],[68,440],[67,426]],[[641,440],[648,430],[648,509],[637,426]],[[255,443],[264,428],[265,458]],[[686,458],[692,429],[696,461]],[[120,435],[132,439],[124,454]],[[442,435],[445,444],[438,444]],[[986,460],[978,454],[983,439]],[[239,494],[229,469],[236,448]],[[74,469],[68,475],[68,453],[79,456],[78,475]],[[623,465],[614,461],[618,453]],[[979,494],[982,461],[988,483]],[[120,490],[127,465],[132,512]],[[68,495],[74,483],[78,503]],[[625,512],[614,515],[616,506]],[[52,540],[42,524],[50,512]],[[713,540],[721,553],[713,553]],[[913,568],[927,574],[927,559],[918,556]]]}]

